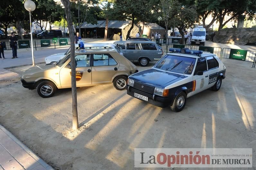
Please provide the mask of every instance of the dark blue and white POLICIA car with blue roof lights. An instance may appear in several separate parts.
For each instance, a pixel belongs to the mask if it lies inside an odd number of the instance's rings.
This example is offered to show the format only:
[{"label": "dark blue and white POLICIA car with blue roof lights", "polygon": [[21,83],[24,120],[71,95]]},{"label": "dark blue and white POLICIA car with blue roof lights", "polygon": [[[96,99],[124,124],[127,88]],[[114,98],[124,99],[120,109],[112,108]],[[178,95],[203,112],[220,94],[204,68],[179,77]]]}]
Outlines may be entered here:
[{"label": "dark blue and white POLICIA car with blue roof lights", "polygon": [[188,97],[220,89],[226,67],[217,55],[188,48],[169,51],[152,68],[128,77],[128,95],[179,112]]}]

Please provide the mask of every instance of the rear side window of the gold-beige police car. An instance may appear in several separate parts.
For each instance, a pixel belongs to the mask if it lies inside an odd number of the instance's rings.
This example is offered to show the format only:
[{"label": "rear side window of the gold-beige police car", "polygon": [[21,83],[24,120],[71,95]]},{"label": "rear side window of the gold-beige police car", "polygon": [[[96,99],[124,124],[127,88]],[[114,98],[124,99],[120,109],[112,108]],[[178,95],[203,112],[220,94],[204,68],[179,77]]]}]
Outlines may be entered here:
[{"label": "rear side window of the gold-beige police car", "polygon": [[93,66],[116,65],[116,61],[109,54],[93,54]]}]

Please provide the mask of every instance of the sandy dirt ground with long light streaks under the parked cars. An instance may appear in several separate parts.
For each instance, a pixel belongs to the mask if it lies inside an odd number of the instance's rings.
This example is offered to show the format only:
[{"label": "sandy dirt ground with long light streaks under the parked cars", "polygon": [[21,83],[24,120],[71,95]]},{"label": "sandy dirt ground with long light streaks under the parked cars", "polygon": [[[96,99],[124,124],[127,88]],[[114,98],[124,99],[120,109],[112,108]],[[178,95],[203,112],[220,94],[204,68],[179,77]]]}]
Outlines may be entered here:
[{"label": "sandy dirt ground with long light streaks under the parked cars", "polygon": [[221,89],[188,98],[179,113],[113,85],[78,88],[78,131],[71,130],[71,89],[41,98],[18,78],[3,81],[0,123],[56,169],[134,169],[134,148],[252,148],[255,168],[256,68],[222,61]]}]

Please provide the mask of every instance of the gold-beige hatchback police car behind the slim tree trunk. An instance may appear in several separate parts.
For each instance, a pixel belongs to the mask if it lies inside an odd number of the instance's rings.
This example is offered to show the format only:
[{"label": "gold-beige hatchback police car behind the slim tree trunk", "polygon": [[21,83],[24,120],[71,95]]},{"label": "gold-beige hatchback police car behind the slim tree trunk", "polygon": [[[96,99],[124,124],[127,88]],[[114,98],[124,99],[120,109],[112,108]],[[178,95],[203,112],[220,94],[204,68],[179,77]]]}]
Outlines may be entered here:
[{"label": "gold-beige hatchback police car behind the slim tree trunk", "polygon": [[[77,87],[111,84],[125,89],[127,77],[138,72],[137,67],[114,49],[76,52]],[[54,64],[34,66],[21,77],[24,88],[37,89],[42,98],[52,97],[56,89],[71,88],[70,54]]]}]

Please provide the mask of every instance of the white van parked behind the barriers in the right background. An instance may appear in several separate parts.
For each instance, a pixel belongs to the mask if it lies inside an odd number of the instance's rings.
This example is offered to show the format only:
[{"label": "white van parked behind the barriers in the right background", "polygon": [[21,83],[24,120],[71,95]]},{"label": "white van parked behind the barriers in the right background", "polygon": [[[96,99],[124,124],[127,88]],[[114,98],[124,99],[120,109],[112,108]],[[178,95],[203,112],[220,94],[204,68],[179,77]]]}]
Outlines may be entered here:
[{"label": "white van parked behind the barriers in the right background", "polygon": [[206,40],[206,30],[202,26],[193,29],[191,45],[205,45]]}]

